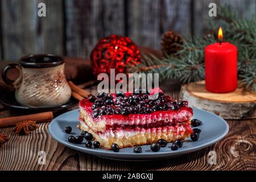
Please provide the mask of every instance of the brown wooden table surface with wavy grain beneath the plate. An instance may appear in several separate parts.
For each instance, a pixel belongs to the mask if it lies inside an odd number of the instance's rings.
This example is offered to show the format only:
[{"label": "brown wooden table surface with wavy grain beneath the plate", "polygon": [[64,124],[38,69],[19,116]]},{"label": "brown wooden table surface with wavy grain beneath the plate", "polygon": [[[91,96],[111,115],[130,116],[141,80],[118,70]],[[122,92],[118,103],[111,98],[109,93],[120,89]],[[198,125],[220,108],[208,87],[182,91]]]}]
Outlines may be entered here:
[{"label": "brown wooden table surface with wavy grain beneath the plate", "polygon": [[[179,98],[179,88],[170,84],[162,87],[174,99]],[[95,88],[88,90],[95,94]],[[0,118],[20,114],[2,109]],[[171,159],[146,162],[104,159],[72,150],[51,138],[49,123],[39,124],[39,129],[28,136],[14,134],[11,127],[3,128],[0,134],[9,135],[10,140],[0,148],[0,170],[255,170],[256,119],[227,122],[228,135],[213,146]],[[39,165],[39,151],[46,152],[46,164]],[[216,152],[217,164],[208,163],[210,151]]]}]

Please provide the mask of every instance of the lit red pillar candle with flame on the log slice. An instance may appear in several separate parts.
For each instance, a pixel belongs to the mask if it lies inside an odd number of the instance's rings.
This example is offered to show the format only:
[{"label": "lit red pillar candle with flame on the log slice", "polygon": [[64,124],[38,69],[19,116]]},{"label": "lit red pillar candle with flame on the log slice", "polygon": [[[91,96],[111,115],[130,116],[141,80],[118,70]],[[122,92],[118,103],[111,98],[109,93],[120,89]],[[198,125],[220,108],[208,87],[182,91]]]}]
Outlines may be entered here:
[{"label": "lit red pillar candle with flame on the log slice", "polygon": [[[222,39],[222,30],[219,30]],[[215,43],[205,47],[205,88],[214,93],[232,92],[237,88],[237,47]]]}]

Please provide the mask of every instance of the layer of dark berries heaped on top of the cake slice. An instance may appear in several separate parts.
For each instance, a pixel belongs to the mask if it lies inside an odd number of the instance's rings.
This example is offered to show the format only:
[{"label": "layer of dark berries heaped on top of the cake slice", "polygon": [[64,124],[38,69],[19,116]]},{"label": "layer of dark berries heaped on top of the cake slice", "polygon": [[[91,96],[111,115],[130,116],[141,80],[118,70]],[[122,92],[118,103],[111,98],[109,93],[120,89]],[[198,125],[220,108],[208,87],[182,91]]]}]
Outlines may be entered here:
[{"label": "layer of dark berries heaped on top of the cake slice", "polygon": [[[115,94],[99,93],[97,98],[89,97],[92,102],[92,117],[98,118],[100,115],[110,114],[150,114],[154,111],[179,110],[187,107],[187,101],[172,101],[170,96],[158,94],[158,98],[151,99],[149,93],[134,92],[124,94],[118,91]],[[154,98],[154,97],[153,97]]]}]

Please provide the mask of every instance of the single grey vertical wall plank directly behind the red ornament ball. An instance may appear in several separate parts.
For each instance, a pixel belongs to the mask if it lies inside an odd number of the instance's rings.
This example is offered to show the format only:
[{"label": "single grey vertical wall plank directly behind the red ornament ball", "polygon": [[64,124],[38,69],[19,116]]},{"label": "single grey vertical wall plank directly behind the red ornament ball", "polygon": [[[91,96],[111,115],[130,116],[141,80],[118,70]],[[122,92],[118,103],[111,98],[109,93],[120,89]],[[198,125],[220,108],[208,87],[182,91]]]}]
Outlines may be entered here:
[{"label": "single grey vertical wall plank directly behind the red ornament ball", "polygon": [[88,57],[98,39],[125,35],[124,1],[65,1],[67,55]]}]

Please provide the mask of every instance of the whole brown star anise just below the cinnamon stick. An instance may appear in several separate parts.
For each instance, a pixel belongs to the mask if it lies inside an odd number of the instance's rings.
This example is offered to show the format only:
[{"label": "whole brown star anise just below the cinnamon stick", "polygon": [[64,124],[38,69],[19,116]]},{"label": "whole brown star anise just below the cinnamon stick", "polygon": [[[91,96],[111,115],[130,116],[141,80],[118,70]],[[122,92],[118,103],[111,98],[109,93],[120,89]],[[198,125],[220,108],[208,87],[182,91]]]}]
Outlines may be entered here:
[{"label": "whole brown star anise just below the cinnamon stick", "polygon": [[27,120],[16,124],[14,132],[19,135],[28,135],[30,131],[36,130],[38,125],[35,121]]}]

